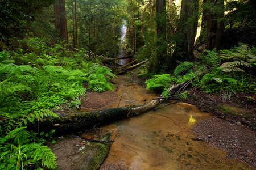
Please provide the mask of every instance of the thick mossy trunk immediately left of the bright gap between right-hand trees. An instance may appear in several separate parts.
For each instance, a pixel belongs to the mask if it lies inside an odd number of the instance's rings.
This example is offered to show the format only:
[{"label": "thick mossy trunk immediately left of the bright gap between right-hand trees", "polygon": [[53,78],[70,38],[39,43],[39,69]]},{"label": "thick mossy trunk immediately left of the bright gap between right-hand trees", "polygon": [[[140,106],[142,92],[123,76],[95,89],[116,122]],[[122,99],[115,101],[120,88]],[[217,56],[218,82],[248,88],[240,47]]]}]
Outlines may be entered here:
[{"label": "thick mossy trunk immediately left of the bright gap between right-hand trees", "polygon": [[176,61],[193,61],[193,46],[195,42],[198,24],[199,0],[182,0],[180,19],[177,27],[179,41],[177,42],[172,56],[172,66],[176,66]]}]

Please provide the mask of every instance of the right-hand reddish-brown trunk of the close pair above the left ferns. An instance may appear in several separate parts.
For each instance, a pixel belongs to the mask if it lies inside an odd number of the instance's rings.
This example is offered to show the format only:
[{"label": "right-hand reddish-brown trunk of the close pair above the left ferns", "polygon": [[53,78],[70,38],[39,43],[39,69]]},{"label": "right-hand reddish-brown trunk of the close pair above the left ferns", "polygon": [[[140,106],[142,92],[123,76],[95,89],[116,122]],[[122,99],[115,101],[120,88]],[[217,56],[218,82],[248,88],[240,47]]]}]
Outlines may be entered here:
[{"label": "right-hand reddish-brown trunk of the close pair above the left ferns", "polygon": [[60,0],[60,36],[68,43],[68,27],[65,9],[65,0]]}]

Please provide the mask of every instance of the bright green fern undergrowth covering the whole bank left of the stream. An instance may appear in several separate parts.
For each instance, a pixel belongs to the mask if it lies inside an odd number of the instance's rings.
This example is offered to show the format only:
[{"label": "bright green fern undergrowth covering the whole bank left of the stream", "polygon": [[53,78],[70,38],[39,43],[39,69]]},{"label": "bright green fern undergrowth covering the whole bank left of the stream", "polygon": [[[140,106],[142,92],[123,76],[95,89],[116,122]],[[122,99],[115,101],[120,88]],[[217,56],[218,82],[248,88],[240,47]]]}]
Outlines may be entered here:
[{"label": "bright green fern undergrowth covering the whole bank left of the stream", "polygon": [[68,101],[69,107],[79,105],[85,83],[93,91],[113,90],[109,80],[114,74],[89,62],[83,49],[73,52],[63,42],[49,46],[44,39],[29,37],[14,44],[18,50],[0,52],[0,169],[31,164],[55,169],[55,155],[44,146],[46,134],[27,131],[27,124],[57,117],[52,111]]}]

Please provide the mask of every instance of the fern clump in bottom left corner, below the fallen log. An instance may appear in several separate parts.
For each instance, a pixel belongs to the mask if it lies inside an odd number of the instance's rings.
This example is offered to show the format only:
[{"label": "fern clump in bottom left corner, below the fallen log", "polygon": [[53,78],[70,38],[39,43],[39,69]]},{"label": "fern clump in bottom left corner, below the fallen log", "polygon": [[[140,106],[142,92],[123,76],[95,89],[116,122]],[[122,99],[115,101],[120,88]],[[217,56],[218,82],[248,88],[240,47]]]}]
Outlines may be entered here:
[{"label": "fern clump in bottom left corner, below the fallen log", "polygon": [[0,140],[1,169],[26,169],[27,165],[42,164],[43,167],[55,169],[56,156],[51,149],[43,146],[34,133],[24,130],[26,127],[9,131]]}]

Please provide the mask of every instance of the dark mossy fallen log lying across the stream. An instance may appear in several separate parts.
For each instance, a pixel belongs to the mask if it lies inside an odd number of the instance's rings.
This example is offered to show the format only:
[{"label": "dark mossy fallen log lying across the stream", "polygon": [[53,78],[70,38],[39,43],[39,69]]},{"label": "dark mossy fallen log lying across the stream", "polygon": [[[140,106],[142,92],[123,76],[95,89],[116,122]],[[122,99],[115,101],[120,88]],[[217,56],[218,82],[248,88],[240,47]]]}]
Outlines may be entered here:
[{"label": "dark mossy fallen log lying across the stream", "polygon": [[[174,95],[180,88],[184,86],[184,83],[177,84],[168,89],[171,95]],[[48,131],[55,129],[56,133],[72,133],[80,128],[90,128],[96,124],[103,124],[112,121],[122,120],[137,116],[138,114],[145,113],[154,109],[158,103],[162,103],[165,99],[162,99],[162,95],[159,99],[153,99],[149,103],[139,106],[121,107],[103,109],[93,112],[81,112],[73,114],[61,114],[56,117],[45,117],[38,121],[38,124],[31,125],[32,129],[40,131]]]}]

